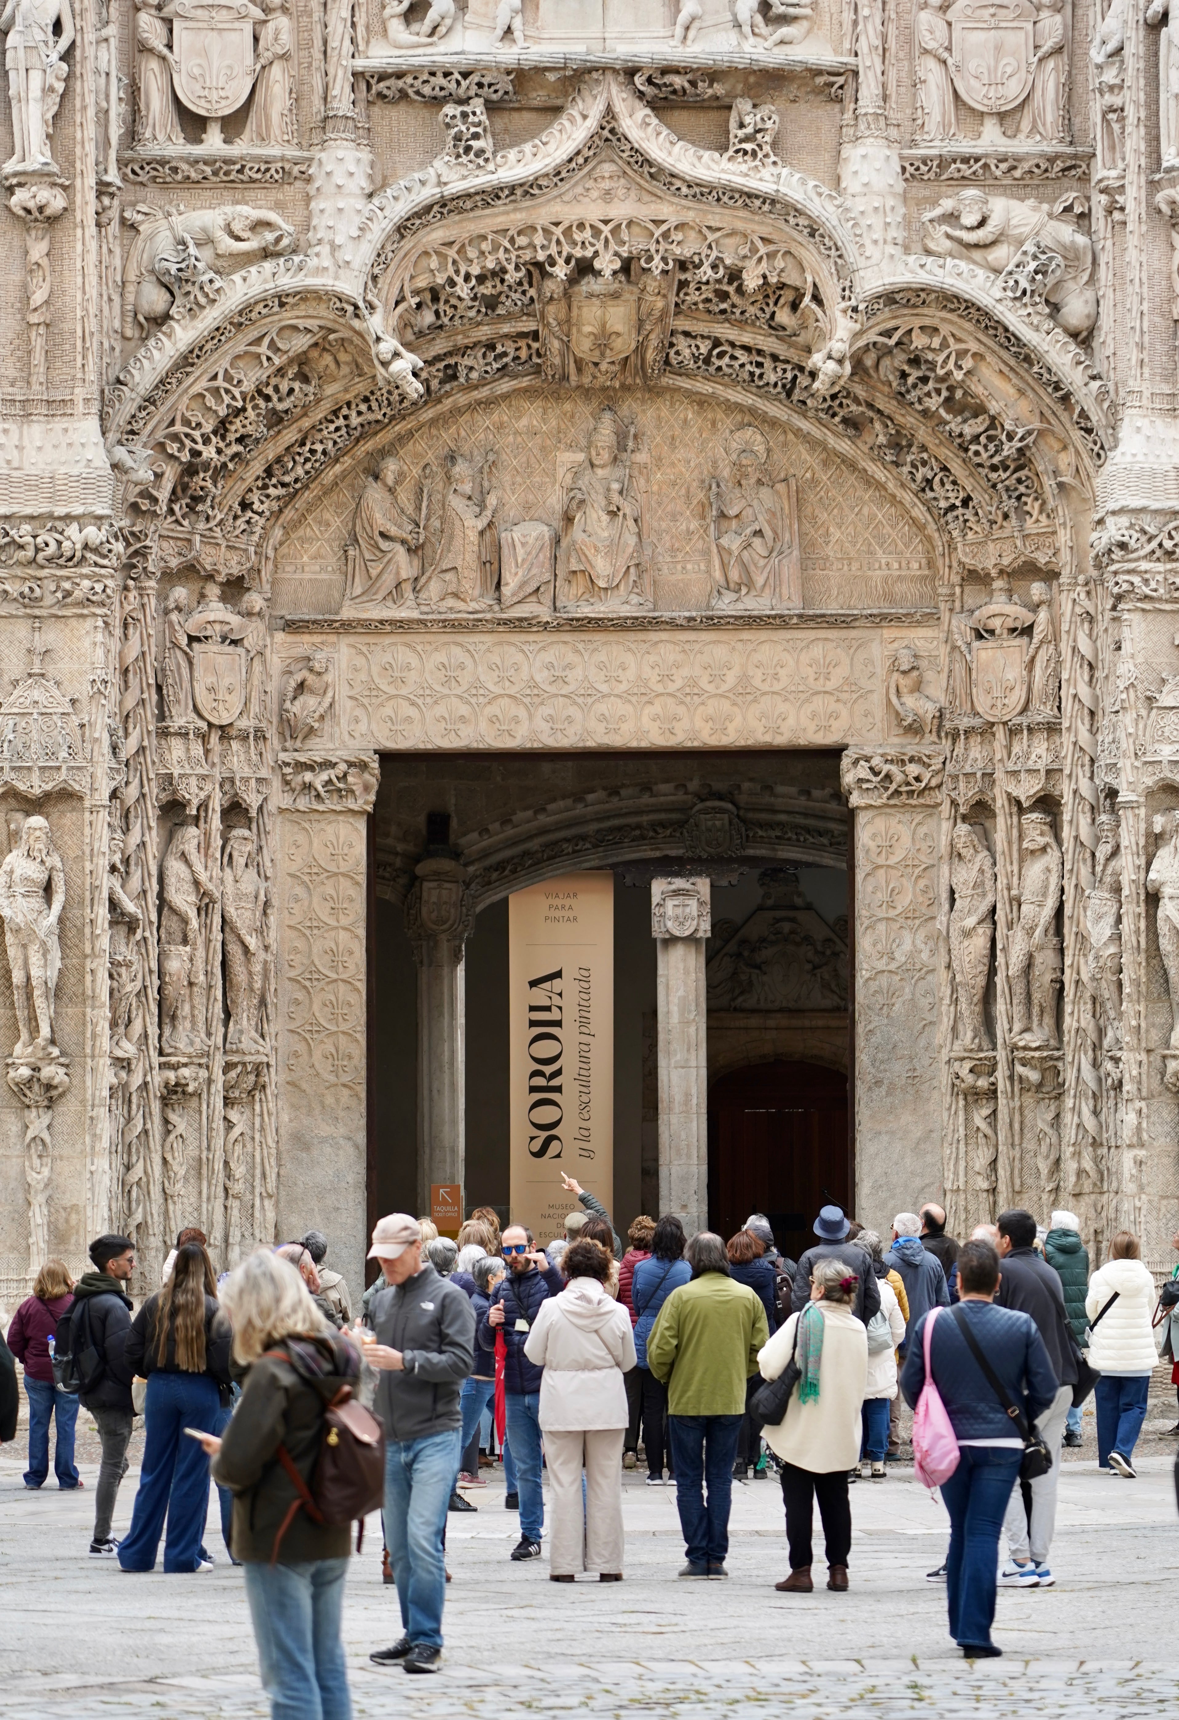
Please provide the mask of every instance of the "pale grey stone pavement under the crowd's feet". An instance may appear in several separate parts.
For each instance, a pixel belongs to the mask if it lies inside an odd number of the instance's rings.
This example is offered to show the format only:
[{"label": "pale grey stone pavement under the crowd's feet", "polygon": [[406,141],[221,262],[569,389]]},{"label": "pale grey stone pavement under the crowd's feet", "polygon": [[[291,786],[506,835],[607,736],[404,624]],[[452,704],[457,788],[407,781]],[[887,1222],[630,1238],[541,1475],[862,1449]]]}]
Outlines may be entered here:
[{"label": "pale grey stone pavement under the crowd's feet", "polygon": [[[0,1459],[0,1717],[265,1717],[241,1577],[224,1555],[200,1577],[124,1576],[91,1560],[93,1462],[83,1453],[83,1493],[52,1483],[28,1493],[15,1452]],[[1100,1703],[1103,1720],[1155,1717],[1174,1701],[1179,1667],[1172,1453],[1172,1441],[1148,1429],[1136,1483],[1098,1476],[1084,1453],[1065,1464],[1057,1584],[1000,1591],[995,1637],[1005,1658],[974,1667],[945,1632],[945,1588],[924,1576],[945,1551],[945,1512],[912,1471],[852,1490],[852,1589],[806,1598],[773,1591],[787,1560],[771,1481],[735,1488],[730,1579],[676,1582],[675,1490],[627,1476],[627,1581],[570,1588],[547,1581],[544,1558],[508,1562],[516,1519],[492,1479],[472,1493],[478,1520],[449,1517],[454,1582],[439,1677],[408,1679],[367,1660],[399,1634],[373,1520],[346,1603],[356,1715],[711,1720],[752,1708],[799,1720],[842,1710],[976,1720],[1019,1706],[1036,1720],[1088,1720]],[[115,1533],[129,1522],[134,1479],[133,1471]],[[220,1551],[215,1496],[207,1543]]]}]

